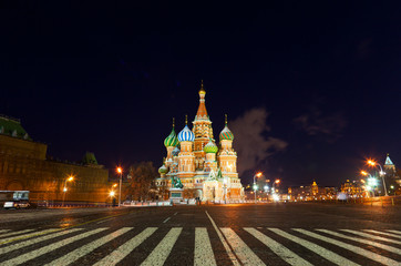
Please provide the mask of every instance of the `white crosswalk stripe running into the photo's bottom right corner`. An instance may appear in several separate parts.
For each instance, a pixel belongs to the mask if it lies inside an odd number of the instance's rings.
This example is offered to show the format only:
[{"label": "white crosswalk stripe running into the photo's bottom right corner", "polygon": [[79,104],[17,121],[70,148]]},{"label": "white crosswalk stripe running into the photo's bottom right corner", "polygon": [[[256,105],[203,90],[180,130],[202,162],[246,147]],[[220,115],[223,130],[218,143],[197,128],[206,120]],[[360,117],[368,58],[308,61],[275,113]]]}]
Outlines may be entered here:
[{"label": "white crosswalk stripe running into the photo's bottom right corner", "polygon": [[345,248],[347,250],[350,250],[350,252],[359,254],[359,255],[361,255],[363,257],[370,258],[370,259],[372,259],[374,262],[378,262],[378,263],[381,263],[381,264],[384,264],[384,265],[391,265],[391,266],[398,265],[398,266],[400,266],[400,264],[398,262],[395,262],[395,260],[393,260],[391,258],[381,256],[379,254],[372,253],[372,252],[370,252],[368,249],[364,249],[364,248],[361,248],[361,247],[356,247],[356,246],[352,246],[352,245],[350,245],[348,243],[336,241],[336,239],[332,239],[332,238],[329,238],[329,237],[326,237],[326,236],[322,236],[322,235],[319,235],[319,234],[316,234],[316,233],[312,233],[312,232],[309,232],[309,231],[306,231],[306,229],[294,229],[294,231],[297,231],[297,232],[300,232],[300,233],[302,233],[305,235],[308,235],[310,237],[313,237],[313,238],[330,243],[332,245],[342,247],[342,248]]}]

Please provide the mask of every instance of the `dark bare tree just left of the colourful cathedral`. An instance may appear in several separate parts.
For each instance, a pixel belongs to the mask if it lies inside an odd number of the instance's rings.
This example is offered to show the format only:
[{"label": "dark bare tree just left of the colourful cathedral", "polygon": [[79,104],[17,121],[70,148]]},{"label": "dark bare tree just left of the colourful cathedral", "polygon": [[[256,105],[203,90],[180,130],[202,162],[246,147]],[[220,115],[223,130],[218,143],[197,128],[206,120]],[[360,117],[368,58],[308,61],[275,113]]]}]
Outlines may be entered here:
[{"label": "dark bare tree just left of the colourful cathedral", "polygon": [[157,170],[152,162],[140,162],[130,166],[131,181],[126,188],[133,201],[146,201],[152,198],[155,191],[154,178]]}]

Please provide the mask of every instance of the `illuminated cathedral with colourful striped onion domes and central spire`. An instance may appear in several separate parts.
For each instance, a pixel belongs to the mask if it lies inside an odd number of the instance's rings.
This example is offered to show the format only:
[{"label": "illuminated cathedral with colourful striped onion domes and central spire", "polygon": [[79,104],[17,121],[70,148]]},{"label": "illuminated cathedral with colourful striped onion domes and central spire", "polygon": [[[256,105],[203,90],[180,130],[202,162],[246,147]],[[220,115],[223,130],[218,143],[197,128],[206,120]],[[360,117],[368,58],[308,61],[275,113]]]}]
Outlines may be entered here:
[{"label": "illuminated cathedral with colourful striped onion domes and central spire", "polygon": [[226,116],[219,143],[216,143],[205,96],[206,91],[202,83],[199,106],[192,122],[192,130],[185,119],[184,129],[176,134],[173,121],[173,130],[164,140],[167,154],[158,168],[156,186],[171,198],[198,197],[204,202],[243,200],[244,190],[237,173],[237,153],[233,149],[234,134],[228,129]]}]

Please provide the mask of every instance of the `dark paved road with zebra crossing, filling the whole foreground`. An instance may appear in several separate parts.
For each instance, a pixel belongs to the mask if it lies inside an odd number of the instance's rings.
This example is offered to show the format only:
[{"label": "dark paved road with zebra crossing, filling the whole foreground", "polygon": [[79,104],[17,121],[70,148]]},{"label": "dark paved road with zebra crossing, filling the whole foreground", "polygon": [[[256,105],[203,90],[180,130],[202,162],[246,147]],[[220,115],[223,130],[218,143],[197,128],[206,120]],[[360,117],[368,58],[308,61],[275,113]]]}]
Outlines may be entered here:
[{"label": "dark paved road with zebra crossing, filling the whole foreground", "polygon": [[401,266],[401,208],[269,204],[2,211],[0,265]]}]

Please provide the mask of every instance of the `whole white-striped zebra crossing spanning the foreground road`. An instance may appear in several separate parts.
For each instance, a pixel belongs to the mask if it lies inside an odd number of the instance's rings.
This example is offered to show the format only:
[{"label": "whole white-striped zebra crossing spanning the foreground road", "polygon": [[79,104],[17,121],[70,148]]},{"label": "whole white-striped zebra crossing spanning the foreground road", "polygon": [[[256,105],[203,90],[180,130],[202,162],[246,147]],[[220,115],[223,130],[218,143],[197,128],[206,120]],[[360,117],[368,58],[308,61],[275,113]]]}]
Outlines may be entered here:
[{"label": "whole white-striped zebra crossing spanning the foreground road", "polygon": [[[186,256],[185,259],[182,256]],[[271,227],[1,229],[0,265],[25,264],[401,266],[401,231]]]}]

